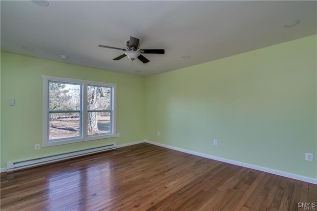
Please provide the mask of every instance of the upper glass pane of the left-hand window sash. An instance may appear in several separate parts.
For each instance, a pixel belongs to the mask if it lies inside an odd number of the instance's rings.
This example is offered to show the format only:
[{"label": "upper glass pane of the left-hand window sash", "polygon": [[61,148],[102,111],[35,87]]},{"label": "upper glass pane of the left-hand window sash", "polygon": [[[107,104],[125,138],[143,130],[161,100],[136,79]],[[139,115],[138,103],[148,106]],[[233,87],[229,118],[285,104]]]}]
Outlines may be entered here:
[{"label": "upper glass pane of the left-hand window sash", "polygon": [[79,84],[49,82],[50,110],[80,110]]}]

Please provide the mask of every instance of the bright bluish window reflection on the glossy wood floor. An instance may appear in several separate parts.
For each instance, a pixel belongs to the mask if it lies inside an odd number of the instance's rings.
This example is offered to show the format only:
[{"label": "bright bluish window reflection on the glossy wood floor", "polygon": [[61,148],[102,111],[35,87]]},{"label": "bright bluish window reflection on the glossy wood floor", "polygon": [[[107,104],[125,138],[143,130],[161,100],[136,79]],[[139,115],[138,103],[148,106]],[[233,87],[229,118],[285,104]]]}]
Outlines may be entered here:
[{"label": "bright bluish window reflection on the glossy wood floor", "polygon": [[113,190],[111,180],[111,161],[52,173],[48,179],[51,203],[47,209],[85,210],[85,207],[91,209],[96,200],[112,200],[109,197]]}]

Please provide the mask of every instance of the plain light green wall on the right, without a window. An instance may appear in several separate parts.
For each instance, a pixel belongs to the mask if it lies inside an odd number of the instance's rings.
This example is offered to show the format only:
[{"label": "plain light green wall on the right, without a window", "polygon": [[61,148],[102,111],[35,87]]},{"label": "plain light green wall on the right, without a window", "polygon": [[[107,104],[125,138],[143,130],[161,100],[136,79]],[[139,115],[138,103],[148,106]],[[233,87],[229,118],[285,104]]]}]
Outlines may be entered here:
[{"label": "plain light green wall on the right, without a window", "polygon": [[316,40],[147,77],[146,140],[317,178]]}]

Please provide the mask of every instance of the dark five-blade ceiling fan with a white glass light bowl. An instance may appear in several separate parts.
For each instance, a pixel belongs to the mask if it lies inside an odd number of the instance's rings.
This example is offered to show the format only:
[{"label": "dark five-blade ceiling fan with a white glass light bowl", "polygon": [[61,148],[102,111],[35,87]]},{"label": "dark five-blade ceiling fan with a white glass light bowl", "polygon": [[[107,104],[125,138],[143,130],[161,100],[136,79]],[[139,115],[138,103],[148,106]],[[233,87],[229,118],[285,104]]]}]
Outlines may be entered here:
[{"label": "dark five-blade ceiling fan with a white glass light bowl", "polygon": [[120,51],[124,51],[122,55],[119,55],[118,57],[114,58],[113,60],[119,60],[125,56],[128,56],[129,59],[132,61],[136,58],[138,58],[140,61],[143,63],[148,63],[150,60],[144,57],[141,53],[156,53],[156,54],[164,54],[165,51],[164,49],[140,49],[140,40],[135,37],[130,37],[130,40],[128,40],[125,44],[125,47],[127,49],[120,49],[120,48],[115,48],[115,47],[110,47],[110,46],[102,46],[99,45],[98,47],[102,48],[108,48],[108,49],[117,49]]}]

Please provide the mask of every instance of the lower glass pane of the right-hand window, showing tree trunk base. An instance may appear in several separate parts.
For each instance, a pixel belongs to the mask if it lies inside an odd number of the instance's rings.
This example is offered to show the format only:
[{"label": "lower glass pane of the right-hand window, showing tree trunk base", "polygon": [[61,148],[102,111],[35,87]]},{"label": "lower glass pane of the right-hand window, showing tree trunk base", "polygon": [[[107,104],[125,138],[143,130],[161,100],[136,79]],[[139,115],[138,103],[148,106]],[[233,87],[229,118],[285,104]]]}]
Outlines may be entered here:
[{"label": "lower glass pane of the right-hand window, showing tree trunk base", "polygon": [[88,135],[110,133],[110,112],[88,112]]}]

